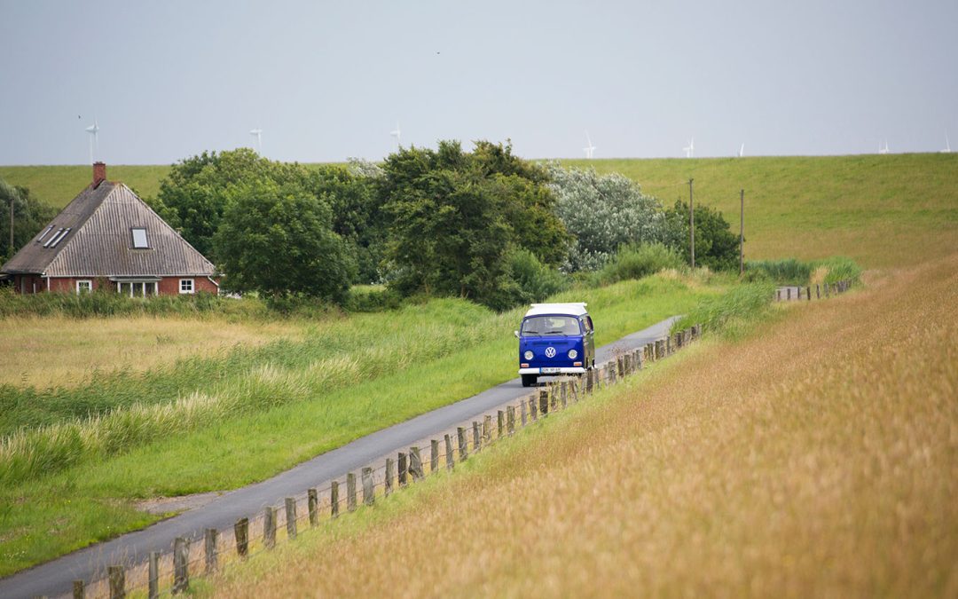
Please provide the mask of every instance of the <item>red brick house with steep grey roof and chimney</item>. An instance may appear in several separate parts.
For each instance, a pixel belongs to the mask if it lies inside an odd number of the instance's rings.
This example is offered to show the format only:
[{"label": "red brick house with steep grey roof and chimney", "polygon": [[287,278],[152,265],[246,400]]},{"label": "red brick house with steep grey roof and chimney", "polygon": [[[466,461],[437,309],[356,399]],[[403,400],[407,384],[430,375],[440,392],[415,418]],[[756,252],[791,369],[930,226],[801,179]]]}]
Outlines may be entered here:
[{"label": "red brick house with steep grey roof and chimney", "polygon": [[75,197],[0,275],[18,293],[111,288],[131,297],[217,293],[216,267],[123,183],[93,165]]}]

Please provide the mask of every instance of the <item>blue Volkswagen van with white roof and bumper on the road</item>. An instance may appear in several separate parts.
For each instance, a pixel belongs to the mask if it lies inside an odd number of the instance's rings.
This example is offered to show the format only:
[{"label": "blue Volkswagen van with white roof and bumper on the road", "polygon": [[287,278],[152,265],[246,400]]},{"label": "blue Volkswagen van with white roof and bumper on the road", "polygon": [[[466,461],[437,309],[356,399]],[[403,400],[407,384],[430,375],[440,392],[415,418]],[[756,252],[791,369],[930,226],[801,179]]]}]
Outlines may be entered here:
[{"label": "blue Volkswagen van with white roof and bumper on the road", "polygon": [[533,304],[515,336],[524,387],[535,385],[540,376],[582,375],[595,366],[592,318],[585,303]]}]

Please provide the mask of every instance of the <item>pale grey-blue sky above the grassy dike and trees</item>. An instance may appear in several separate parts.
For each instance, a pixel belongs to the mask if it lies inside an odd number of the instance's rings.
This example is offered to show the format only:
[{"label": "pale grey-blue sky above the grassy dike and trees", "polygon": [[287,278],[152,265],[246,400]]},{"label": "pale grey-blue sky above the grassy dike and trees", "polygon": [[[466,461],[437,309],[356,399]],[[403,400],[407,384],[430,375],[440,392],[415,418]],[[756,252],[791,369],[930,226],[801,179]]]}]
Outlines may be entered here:
[{"label": "pale grey-blue sky above the grassy dike and trees", "polygon": [[0,0],[0,164],[958,150],[958,1]]}]

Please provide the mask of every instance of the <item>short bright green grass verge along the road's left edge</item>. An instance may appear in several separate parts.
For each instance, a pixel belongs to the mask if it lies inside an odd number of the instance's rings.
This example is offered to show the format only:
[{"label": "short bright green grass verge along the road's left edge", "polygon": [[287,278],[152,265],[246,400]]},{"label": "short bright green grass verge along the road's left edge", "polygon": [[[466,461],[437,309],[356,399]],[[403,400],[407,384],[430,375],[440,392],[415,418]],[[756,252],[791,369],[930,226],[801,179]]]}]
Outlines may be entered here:
[{"label": "short bright green grass verge along the road's left edge", "polygon": [[[720,287],[695,279],[660,276],[567,291],[554,300],[588,301],[598,326],[597,342],[602,344],[676,311],[691,310],[701,298],[719,291]],[[0,487],[0,505],[15,506],[0,515],[0,576],[155,521],[157,517],[132,509],[136,499],[222,491],[262,480],[368,432],[515,377],[512,331],[523,309],[494,314],[461,300],[433,300],[415,312],[431,311],[435,316],[444,309],[448,331],[430,329],[427,319],[400,318],[393,312],[361,315],[399,318],[389,327],[383,326],[387,321],[360,322],[355,316],[344,321],[341,326],[360,332],[355,334],[372,336],[342,339],[343,347],[372,346],[355,350],[349,359],[357,363],[337,375],[335,384],[318,382],[316,377],[326,376],[322,368],[317,372],[302,368],[297,360],[276,360],[258,368],[259,381],[251,374],[245,381],[231,377],[223,382],[236,389],[238,398],[255,396],[269,399],[268,403],[214,414],[204,413],[200,406],[195,411],[174,410],[180,425],[161,434],[137,425],[133,413],[138,408],[110,412],[103,418],[116,414],[115,448],[82,454],[81,444],[67,444],[62,449],[65,457],[53,453],[57,459],[72,460],[73,466],[58,472],[48,468],[39,477],[34,472]],[[440,351],[423,355],[407,345],[429,347],[431,335],[445,335],[435,342]],[[374,363],[359,363],[362,358]],[[262,387],[254,393],[242,386],[251,384]],[[272,393],[276,389],[281,393]],[[171,409],[171,404],[156,403],[149,409]],[[194,426],[186,424],[190,419]],[[67,420],[64,426],[77,424],[81,437],[84,421]],[[38,436],[34,446],[24,448],[27,454],[32,448],[47,450],[41,447],[42,441],[51,439],[42,434],[47,429],[31,431]],[[102,439],[110,434],[100,430],[92,436]],[[70,451],[80,451],[80,457],[72,458]]]}]

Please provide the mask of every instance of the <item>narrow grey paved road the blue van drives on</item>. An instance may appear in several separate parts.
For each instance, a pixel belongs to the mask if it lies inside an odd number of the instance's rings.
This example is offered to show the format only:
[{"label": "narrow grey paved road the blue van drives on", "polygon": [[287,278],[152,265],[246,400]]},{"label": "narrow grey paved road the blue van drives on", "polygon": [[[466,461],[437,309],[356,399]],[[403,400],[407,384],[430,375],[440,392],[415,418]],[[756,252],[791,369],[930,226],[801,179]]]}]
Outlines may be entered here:
[{"label": "narrow grey paved road the blue van drives on", "polygon": [[[596,364],[608,360],[617,349],[631,350],[666,336],[672,322],[672,318],[663,320],[599,348]],[[276,505],[284,497],[302,495],[308,487],[322,485],[346,472],[376,464],[385,456],[395,455],[397,451],[404,451],[423,439],[476,420],[529,392],[529,389],[522,387],[519,379],[513,379],[467,400],[378,430],[268,480],[221,495],[206,505],[174,518],[13,574],[0,580],[0,597],[55,597],[69,593],[74,580],[89,582],[103,577],[107,564],[140,564],[147,560],[150,551],[170,551],[176,537],[195,541],[201,538],[204,528],[231,528],[238,518],[258,515],[264,507]]]}]

